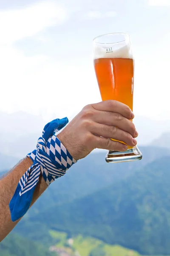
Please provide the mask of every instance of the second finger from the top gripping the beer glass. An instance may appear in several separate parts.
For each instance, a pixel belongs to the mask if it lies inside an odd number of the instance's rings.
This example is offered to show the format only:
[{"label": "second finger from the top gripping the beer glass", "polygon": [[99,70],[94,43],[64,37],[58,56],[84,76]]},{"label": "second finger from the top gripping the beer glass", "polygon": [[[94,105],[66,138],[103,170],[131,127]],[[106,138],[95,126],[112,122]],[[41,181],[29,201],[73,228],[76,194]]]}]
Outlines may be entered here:
[{"label": "second finger from the top gripping the beer glass", "polygon": [[130,133],[133,138],[138,136],[135,125],[129,119],[119,113],[97,111],[93,117],[94,122],[103,125],[116,126],[119,129]]}]

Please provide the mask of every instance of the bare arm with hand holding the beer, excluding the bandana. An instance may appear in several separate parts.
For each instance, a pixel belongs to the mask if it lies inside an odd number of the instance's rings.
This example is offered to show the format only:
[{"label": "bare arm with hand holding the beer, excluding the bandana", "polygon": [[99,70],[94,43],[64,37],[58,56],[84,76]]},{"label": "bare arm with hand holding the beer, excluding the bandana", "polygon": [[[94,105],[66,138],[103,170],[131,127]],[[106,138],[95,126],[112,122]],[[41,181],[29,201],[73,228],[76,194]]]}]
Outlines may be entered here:
[{"label": "bare arm with hand holding the beer, excluding the bandana", "polygon": [[[130,121],[133,117],[130,108],[120,102],[99,102],[83,108],[57,137],[76,160],[86,157],[94,148],[125,151],[127,145],[135,146],[137,143],[134,138],[138,133]],[[108,138],[123,141],[127,145]],[[20,178],[31,164],[31,159],[27,157],[0,180],[0,241],[19,221],[11,221],[9,202]],[[40,176],[31,205],[46,188],[45,180]]]}]

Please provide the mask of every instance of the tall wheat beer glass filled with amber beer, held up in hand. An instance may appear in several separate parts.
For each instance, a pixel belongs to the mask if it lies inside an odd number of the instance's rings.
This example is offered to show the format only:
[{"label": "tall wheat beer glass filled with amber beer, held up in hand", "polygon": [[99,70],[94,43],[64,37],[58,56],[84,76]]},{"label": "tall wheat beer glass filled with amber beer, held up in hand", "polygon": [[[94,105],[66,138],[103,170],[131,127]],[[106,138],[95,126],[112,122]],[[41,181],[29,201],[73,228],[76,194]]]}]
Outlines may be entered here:
[{"label": "tall wheat beer glass filled with amber beer, held up in hand", "polygon": [[[93,41],[94,68],[102,101],[114,99],[133,111],[134,60],[130,36],[125,33],[100,35]],[[113,140],[111,138],[111,140]],[[137,146],[127,151],[108,151],[106,162],[141,160]]]}]

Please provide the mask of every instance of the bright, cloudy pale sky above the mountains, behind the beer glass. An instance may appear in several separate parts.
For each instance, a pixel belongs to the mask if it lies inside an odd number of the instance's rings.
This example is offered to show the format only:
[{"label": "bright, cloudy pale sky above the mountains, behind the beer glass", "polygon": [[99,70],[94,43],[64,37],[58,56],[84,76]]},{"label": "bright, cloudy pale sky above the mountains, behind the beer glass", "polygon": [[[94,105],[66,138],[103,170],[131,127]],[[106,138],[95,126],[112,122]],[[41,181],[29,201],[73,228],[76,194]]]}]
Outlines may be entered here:
[{"label": "bright, cloudy pale sky above the mountains, behind the beer glass", "polygon": [[130,34],[134,113],[170,119],[170,0],[0,0],[0,111],[71,119],[101,101],[93,38]]}]

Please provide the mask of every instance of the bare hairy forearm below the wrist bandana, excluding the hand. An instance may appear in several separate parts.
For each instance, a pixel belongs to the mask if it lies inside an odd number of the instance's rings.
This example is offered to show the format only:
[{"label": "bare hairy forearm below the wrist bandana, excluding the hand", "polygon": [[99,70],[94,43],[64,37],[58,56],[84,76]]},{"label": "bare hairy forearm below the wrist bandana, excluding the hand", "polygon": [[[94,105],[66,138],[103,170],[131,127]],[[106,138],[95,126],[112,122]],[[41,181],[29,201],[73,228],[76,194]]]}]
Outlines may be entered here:
[{"label": "bare hairy forearm below the wrist bandana, excluding the hand", "polygon": [[[15,189],[20,178],[26,170],[32,165],[32,160],[28,157],[23,159],[17,166],[12,169],[5,177],[0,180],[0,241],[15,227],[19,220],[12,222],[9,210],[9,202],[14,195]],[[34,191],[31,205],[40,197],[47,188],[45,180],[40,175],[39,183]]]}]

